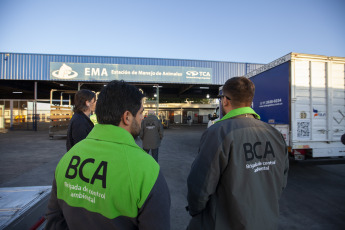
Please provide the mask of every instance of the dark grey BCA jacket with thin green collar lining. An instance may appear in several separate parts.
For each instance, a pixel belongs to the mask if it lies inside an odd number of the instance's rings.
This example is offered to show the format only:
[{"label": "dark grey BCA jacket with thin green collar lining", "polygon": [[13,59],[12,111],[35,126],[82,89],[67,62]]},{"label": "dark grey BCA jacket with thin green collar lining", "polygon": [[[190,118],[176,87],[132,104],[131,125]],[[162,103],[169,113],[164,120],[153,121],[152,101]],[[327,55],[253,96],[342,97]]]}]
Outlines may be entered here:
[{"label": "dark grey BCA jacket with thin green collar lining", "polygon": [[207,129],[188,176],[190,230],[276,229],[287,183],[284,138],[249,107]]}]

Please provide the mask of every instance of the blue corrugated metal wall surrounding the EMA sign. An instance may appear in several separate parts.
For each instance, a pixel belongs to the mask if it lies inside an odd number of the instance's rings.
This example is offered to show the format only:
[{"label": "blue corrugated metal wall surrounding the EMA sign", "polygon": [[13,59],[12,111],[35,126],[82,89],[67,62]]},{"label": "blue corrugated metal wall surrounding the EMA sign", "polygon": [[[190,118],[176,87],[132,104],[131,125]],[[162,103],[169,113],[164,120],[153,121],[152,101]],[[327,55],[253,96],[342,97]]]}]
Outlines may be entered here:
[{"label": "blue corrugated metal wall surrounding the EMA sign", "polygon": [[0,53],[0,55],[0,79],[7,80],[50,80],[50,62],[70,62],[212,68],[212,84],[222,85],[227,79],[231,77],[245,75],[255,70],[256,68],[263,66],[263,64],[253,63],[163,58],[102,57],[19,53]]}]

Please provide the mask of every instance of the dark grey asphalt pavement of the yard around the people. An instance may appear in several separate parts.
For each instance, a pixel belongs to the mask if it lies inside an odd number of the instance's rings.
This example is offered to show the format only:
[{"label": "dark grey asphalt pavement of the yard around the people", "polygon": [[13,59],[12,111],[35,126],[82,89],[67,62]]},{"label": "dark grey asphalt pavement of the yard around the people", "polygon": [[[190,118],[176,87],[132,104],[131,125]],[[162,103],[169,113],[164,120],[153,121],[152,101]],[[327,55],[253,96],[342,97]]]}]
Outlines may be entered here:
[{"label": "dark grey asphalt pavement of the yard around the people", "polygon": [[[185,229],[190,219],[185,211],[186,180],[205,129],[193,125],[164,130],[159,164],[171,194],[172,230]],[[0,187],[51,185],[65,143],[62,137],[50,140],[47,130],[0,133]],[[141,145],[140,140],[137,143]],[[345,229],[344,178],[343,162],[290,164],[279,229]]]}]

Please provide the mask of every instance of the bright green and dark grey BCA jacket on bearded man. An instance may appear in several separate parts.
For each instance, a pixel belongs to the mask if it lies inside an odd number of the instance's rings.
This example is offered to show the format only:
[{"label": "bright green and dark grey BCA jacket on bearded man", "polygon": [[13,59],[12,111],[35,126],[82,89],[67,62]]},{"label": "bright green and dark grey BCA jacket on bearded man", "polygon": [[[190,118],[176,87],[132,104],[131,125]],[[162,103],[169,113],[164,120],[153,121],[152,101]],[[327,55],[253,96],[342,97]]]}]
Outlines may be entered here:
[{"label": "bright green and dark grey BCA jacket on bearded man", "polygon": [[170,229],[170,193],[129,132],[97,124],[58,163],[46,219],[46,229]]}]

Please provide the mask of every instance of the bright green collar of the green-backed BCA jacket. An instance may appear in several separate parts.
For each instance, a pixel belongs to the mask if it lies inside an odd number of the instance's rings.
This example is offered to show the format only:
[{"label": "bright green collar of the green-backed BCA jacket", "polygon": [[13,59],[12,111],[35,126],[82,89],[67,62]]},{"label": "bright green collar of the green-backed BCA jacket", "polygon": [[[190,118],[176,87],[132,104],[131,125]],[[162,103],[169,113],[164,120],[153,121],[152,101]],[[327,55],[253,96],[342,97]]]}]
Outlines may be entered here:
[{"label": "bright green collar of the green-backed BCA jacket", "polygon": [[86,138],[138,146],[127,130],[115,125],[96,124]]}]

